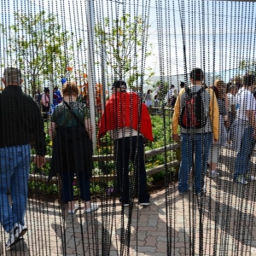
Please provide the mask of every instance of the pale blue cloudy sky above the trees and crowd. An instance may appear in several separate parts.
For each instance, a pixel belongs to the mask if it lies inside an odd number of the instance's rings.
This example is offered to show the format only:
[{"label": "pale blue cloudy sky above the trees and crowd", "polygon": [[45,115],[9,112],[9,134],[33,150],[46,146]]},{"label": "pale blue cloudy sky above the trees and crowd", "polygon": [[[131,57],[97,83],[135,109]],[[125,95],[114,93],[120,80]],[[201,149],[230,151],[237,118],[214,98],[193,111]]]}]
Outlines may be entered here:
[{"label": "pale blue cloudy sky above the trees and crowd", "polygon": [[[234,76],[240,61],[255,60],[255,4],[234,1],[201,0],[95,0],[94,13],[88,15],[85,0],[9,0],[2,1],[1,23],[14,22],[14,11],[35,14],[46,10],[58,15],[62,26],[74,32],[76,38],[84,38],[87,49],[89,16],[95,22],[103,17],[115,19],[125,13],[148,16],[148,45],[152,44],[152,55],[144,62],[152,67],[154,77],[165,78],[188,73],[193,67],[203,67],[206,73],[220,75],[228,81]],[[4,57],[3,38],[0,53]],[[148,46],[149,47],[149,46]],[[87,52],[77,53],[87,60]],[[4,58],[2,58],[4,59]],[[138,66],[143,61],[138,61]],[[100,76],[96,68],[96,76]]]}]

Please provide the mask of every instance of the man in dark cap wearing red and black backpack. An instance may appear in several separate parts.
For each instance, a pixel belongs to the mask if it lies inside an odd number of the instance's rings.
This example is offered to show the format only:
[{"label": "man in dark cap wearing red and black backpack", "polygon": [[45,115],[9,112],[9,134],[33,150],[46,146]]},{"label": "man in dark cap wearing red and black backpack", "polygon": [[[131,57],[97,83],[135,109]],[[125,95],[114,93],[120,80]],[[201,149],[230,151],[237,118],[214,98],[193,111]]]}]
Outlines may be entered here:
[{"label": "man in dark cap wearing red and black backpack", "polygon": [[178,192],[189,191],[189,172],[195,170],[194,188],[197,195],[205,193],[204,177],[209,148],[218,143],[218,103],[211,89],[202,85],[204,73],[194,68],[189,74],[191,85],[183,88],[174,107],[172,138],[179,142],[177,126],[181,128],[182,160],[178,173]]}]

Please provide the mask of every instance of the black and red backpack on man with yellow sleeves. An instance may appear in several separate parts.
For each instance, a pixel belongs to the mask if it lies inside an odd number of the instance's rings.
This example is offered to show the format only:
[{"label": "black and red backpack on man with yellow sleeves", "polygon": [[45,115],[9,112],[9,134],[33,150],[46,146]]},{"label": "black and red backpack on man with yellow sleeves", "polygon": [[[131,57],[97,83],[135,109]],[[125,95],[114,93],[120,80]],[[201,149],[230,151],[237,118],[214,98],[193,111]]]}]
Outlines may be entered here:
[{"label": "black and red backpack on man with yellow sleeves", "polygon": [[192,92],[189,88],[185,90],[185,104],[179,116],[179,125],[183,128],[199,129],[207,125],[207,115],[205,103],[202,98],[201,88],[197,92]]}]

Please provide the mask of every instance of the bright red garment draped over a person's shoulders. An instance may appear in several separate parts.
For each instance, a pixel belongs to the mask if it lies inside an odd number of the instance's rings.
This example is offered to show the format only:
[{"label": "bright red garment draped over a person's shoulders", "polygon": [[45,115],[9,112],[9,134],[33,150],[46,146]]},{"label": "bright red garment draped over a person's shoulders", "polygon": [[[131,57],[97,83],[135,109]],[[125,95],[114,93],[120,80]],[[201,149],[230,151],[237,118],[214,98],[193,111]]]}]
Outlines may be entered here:
[{"label": "bright red garment draped over a person's shoulders", "polygon": [[131,127],[153,141],[152,123],[147,106],[134,92],[117,92],[106,104],[99,123],[99,137],[107,131]]}]

